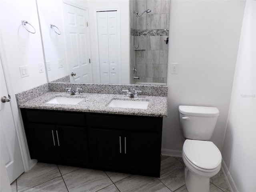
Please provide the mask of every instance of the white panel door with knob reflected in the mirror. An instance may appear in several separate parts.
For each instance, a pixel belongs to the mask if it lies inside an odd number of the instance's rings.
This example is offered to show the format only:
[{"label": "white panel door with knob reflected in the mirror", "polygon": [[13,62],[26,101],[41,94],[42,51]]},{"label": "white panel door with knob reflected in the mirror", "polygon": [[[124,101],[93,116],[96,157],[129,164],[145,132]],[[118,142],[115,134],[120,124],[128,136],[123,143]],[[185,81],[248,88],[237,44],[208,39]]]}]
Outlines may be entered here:
[{"label": "white panel door with knob reflected in the mirror", "polygon": [[63,18],[70,82],[92,82],[87,12],[63,3]]}]

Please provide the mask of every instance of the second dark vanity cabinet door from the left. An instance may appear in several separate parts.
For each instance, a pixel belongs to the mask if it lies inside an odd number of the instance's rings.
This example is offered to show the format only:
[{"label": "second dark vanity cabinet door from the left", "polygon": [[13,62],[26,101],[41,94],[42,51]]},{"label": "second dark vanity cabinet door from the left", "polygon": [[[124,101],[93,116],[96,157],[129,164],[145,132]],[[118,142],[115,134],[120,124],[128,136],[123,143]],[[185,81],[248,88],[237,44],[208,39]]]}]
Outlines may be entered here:
[{"label": "second dark vanity cabinet door from the left", "polygon": [[86,130],[83,127],[56,126],[61,162],[85,166],[88,162]]}]

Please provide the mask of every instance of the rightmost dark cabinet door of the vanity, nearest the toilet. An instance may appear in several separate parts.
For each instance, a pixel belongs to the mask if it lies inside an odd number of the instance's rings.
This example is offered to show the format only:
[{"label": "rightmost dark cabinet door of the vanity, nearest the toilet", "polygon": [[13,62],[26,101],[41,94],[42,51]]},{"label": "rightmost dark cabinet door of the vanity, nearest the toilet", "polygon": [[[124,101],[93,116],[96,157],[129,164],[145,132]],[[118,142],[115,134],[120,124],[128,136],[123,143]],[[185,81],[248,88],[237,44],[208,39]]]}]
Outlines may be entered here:
[{"label": "rightmost dark cabinet door of the vanity, nearest the toilet", "polygon": [[125,132],[124,170],[160,176],[161,138],[155,132]]}]

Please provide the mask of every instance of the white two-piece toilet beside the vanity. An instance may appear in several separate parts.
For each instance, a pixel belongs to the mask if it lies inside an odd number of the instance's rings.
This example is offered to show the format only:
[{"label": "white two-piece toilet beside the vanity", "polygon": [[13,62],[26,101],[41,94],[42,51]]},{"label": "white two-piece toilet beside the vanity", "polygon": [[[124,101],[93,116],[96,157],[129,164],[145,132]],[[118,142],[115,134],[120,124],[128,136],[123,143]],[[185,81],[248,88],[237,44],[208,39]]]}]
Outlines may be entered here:
[{"label": "white two-piece toilet beside the vanity", "polygon": [[210,192],[210,178],[221,168],[222,156],[212,137],[219,116],[216,107],[179,106],[180,124],[186,138],[182,159],[188,192]]}]

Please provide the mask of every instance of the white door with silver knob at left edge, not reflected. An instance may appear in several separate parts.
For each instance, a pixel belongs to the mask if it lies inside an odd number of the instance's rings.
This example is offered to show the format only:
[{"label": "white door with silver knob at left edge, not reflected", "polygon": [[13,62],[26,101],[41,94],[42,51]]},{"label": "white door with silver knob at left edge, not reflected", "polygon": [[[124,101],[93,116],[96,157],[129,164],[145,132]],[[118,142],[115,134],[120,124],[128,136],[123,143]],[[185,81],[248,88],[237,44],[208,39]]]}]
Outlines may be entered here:
[{"label": "white door with silver knob at left edge, not reflected", "polygon": [[[0,63],[0,97],[8,97],[2,64]],[[14,99],[15,98],[11,98]],[[18,137],[10,102],[0,102],[0,150],[10,183],[24,172]]]}]

